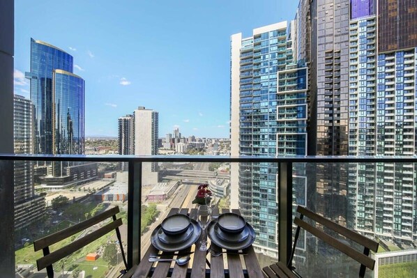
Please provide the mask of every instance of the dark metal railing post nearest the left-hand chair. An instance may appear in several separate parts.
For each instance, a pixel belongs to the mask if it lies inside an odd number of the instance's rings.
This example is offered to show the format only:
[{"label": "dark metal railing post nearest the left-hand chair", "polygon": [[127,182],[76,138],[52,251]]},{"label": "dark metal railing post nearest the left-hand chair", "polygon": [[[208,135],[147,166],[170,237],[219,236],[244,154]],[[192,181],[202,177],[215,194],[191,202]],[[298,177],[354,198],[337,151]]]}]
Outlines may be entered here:
[{"label": "dark metal railing post nearest the left-hand chair", "polygon": [[142,205],[142,162],[129,161],[128,268],[140,262],[140,215]]}]

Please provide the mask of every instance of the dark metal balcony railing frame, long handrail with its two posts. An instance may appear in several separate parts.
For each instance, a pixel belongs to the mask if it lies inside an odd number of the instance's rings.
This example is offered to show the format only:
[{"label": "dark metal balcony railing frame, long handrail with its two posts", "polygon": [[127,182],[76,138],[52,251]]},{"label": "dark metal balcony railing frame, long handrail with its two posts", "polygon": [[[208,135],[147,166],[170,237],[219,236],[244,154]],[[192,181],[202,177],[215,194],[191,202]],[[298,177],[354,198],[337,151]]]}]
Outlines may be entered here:
[{"label": "dark metal balcony railing frame, long handrail with its two posts", "polygon": [[[278,164],[278,254],[289,262],[292,245],[292,167],[294,163],[416,163],[414,156],[253,156],[253,155],[33,155],[0,153],[3,173],[13,172],[13,161],[73,161],[128,163],[128,268],[140,261],[140,217],[142,200],[142,163],[144,162],[268,162]],[[12,162],[12,163],[8,163]],[[10,175],[13,178],[13,175]],[[1,177],[0,177],[1,178]],[[10,179],[10,178],[9,178]],[[13,180],[10,180],[13,183]],[[10,192],[13,197],[13,192]],[[12,206],[13,204],[9,203]]]}]

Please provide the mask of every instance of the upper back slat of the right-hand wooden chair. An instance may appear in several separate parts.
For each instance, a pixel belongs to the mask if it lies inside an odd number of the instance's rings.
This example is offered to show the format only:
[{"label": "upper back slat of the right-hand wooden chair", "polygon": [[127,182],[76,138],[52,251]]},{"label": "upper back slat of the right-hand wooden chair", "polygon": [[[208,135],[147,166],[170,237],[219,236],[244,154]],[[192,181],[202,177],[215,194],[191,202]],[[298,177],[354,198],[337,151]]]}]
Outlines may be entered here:
[{"label": "upper back slat of the right-hand wooden chair", "polygon": [[360,245],[371,249],[374,252],[378,251],[379,243],[375,240],[365,237],[355,231],[345,228],[344,226],[340,226],[339,224],[322,217],[321,215],[317,215],[317,213],[313,213],[311,210],[304,208],[302,206],[298,206],[297,212],[305,215],[306,217],[314,220],[315,222],[319,222],[320,224],[332,229],[333,231],[344,235],[345,237],[354,240]]}]

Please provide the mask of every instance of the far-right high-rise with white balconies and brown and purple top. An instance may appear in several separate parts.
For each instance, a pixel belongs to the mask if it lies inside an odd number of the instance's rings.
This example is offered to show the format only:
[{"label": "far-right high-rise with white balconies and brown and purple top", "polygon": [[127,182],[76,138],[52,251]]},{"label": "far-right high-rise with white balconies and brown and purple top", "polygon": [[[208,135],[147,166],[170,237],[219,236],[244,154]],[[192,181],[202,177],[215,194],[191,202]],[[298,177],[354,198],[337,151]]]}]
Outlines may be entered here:
[{"label": "far-right high-rise with white balconies and brown and purple top", "polygon": [[[372,8],[351,13],[349,24],[349,155],[416,155],[417,5],[361,5]],[[414,171],[414,164],[398,163],[349,167],[351,228],[385,240],[415,240]]]}]

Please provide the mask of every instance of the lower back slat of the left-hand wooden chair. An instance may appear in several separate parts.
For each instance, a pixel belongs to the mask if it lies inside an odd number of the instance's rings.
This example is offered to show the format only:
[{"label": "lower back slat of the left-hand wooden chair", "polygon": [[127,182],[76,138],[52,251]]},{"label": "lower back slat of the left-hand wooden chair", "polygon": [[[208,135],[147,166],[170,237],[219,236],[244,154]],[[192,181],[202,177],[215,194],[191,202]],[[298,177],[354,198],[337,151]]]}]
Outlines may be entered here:
[{"label": "lower back slat of the left-hand wooden chair", "polygon": [[47,256],[39,258],[36,261],[38,265],[38,270],[42,270],[43,268],[46,268],[48,265],[52,265],[52,263],[55,263],[56,261],[61,260],[61,258],[64,258],[72,254],[78,249],[81,249],[82,247],[93,242],[94,240],[97,240],[98,238],[102,237],[106,233],[109,233],[109,231],[112,231],[116,229],[117,227],[121,226],[121,224],[123,224],[121,222],[121,219],[117,219],[116,221],[110,222],[106,226],[103,226],[100,229],[93,231],[92,233],[89,233],[88,235],[85,235],[79,240],[75,240],[74,242],[71,242],[69,245],[66,245],[65,247],[62,247],[61,249],[58,249],[48,254]]}]

